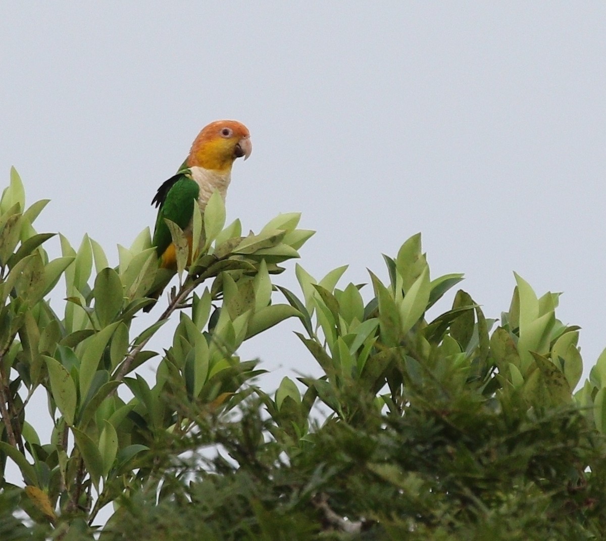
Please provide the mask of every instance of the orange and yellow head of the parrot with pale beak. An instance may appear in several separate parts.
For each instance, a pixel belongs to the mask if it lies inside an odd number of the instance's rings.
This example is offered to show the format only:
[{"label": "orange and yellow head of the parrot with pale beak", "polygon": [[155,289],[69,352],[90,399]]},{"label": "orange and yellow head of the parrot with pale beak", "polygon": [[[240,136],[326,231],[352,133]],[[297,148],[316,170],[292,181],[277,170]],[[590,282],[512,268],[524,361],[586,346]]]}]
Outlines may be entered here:
[{"label": "orange and yellow head of the parrot with pale beak", "polygon": [[236,120],[216,120],[204,127],[191,145],[188,167],[228,172],[236,158],[244,160],[253,151],[250,132]]}]

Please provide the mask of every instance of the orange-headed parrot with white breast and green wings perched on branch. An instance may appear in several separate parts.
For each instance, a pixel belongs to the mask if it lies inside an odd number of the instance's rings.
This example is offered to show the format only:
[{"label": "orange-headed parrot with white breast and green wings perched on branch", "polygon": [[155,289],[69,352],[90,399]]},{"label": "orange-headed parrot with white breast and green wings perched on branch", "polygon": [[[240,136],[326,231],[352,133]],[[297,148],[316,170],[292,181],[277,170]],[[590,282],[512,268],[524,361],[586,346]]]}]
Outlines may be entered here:
[{"label": "orange-headed parrot with white breast and green wings perched on branch", "polygon": [[[176,175],[162,183],[151,200],[152,206],[158,207],[152,244],[156,247],[161,269],[176,272],[175,244],[165,218],[181,227],[191,250],[193,200],[198,200],[202,213],[215,190],[225,201],[231,166],[236,158],[247,160],[252,150],[248,128],[236,120],[216,120],[202,128]],[[164,280],[164,283],[155,284],[156,289],[147,297],[157,300],[167,283]],[[152,307],[153,304],[148,304],[144,311],[149,312]]]}]

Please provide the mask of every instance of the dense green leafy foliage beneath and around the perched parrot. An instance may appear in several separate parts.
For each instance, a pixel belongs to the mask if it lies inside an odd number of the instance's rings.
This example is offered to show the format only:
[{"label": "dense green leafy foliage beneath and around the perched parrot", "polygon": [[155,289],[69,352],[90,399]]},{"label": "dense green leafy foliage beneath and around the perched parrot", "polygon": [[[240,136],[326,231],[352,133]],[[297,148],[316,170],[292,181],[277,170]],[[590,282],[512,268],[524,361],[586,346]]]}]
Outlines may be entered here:
[{"label": "dense green leafy foliage beneath and around the perched parrot", "polygon": [[[451,294],[461,274],[431,277],[421,235],[385,256],[387,280],[338,287],[345,267],[316,280],[297,265],[295,294],[273,277],[313,234],[299,215],[242,235],[213,197],[204,215],[195,206],[191,264],[168,224],[179,284],[154,318],[146,294],[168,276],[149,230],[117,267],[87,236],[76,250],[60,235],[49,260],[54,235],[33,227],[46,203],[25,207],[13,169],[0,200],[1,539],[604,535],[606,354],[573,394],[579,328],[556,318],[558,294],[516,275],[508,311],[486,318]],[[451,308],[430,317],[446,294]],[[171,318],[171,343],[147,349]],[[300,323],[293,357],[323,375],[268,392],[238,348],[286,318]]]}]

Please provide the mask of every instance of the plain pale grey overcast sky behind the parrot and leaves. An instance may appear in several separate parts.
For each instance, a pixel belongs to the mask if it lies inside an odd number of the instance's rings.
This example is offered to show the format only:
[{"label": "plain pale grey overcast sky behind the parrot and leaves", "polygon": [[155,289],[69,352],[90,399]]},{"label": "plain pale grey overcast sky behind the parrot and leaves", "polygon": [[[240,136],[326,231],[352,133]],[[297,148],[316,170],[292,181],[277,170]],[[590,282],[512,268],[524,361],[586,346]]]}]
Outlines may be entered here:
[{"label": "plain pale grey overcast sky behind the parrot and leaves", "polygon": [[[52,199],[38,230],[116,263],[218,118],[254,145],[228,221],[301,211],[312,275],[385,277],[421,231],[432,276],[464,272],[487,317],[515,270],[565,293],[585,374],[606,346],[605,2],[0,3],[0,184],[14,165],[28,203]],[[318,373],[295,326],[241,350],[274,387]]]}]

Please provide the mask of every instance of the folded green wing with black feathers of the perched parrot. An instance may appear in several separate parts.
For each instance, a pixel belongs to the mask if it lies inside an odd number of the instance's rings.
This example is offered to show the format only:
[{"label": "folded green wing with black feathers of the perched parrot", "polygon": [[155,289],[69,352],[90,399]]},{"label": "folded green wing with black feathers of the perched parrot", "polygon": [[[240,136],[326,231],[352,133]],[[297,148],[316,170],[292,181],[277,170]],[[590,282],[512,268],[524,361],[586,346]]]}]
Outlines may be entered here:
[{"label": "folded green wing with black feathers of the perched parrot", "polygon": [[151,204],[159,207],[153,234],[153,244],[158,256],[164,254],[164,250],[173,241],[164,218],[175,222],[181,229],[185,229],[191,222],[192,201],[198,199],[200,187],[189,175],[189,169],[180,170],[158,188],[151,200]]}]

